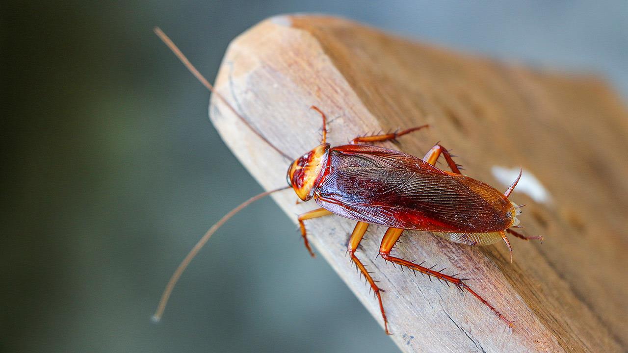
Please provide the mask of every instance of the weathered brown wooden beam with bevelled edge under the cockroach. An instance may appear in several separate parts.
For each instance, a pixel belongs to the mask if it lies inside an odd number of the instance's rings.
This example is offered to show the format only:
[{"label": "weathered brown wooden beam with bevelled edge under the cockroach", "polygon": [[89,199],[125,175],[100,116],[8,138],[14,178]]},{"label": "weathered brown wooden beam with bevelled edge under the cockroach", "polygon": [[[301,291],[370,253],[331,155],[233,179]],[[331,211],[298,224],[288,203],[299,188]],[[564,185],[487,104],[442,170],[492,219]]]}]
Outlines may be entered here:
[{"label": "weathered brown wooden beam with bevelled edge under the cockroach", "polygon": [[[328,141],[428,123],[384,146],[423,156],[436,141],[459,155],[469,176],[504,188],[493,166],[533,173],[552,201],[528,204],[519,219],[545,241],[454,244],[408,232],[398,253],[448,266],[507,317],[473,296],[414,278],[374,259],[384,227],[371,226],[358,255],[381,281],[392,339],[406,352],[620,352],[628,347],[628,114],[593,77],[539,73],[516,65],[413,43],[344,19],[278,16],[232,42],[217,89],[292,156],[320,141],[316,105],[330,117]],[[288,161],[215,99],[210,115],[232,151],[267,189],[285,183]],[[444,166],[443,166],[444,168]],[[315,208],[275,200],[296,222]],[[382,322],[377,301],[345,255],[354,221],[307,223],[318,254]],[[308,256],[305,249],[303,256]],[[312,266],[317,266],[313,261]],[[382,330],[382,339],[384,331]]]}]

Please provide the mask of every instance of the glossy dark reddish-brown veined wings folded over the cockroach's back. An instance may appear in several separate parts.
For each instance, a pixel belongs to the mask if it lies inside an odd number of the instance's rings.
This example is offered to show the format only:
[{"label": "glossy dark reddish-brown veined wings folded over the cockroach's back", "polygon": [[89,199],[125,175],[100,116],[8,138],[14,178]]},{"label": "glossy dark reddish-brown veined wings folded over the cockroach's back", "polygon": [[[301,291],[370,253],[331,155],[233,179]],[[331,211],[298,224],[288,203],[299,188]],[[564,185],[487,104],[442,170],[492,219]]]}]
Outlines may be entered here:
[{"label": "glossy dark reddish-brown veined wings folded over the cockroach's back", "polygon": [[485,183],[366,145],[330,150],[315,199],[349,219],[421,231],[495,232],[509,227],[514,217],[511,203]]}]

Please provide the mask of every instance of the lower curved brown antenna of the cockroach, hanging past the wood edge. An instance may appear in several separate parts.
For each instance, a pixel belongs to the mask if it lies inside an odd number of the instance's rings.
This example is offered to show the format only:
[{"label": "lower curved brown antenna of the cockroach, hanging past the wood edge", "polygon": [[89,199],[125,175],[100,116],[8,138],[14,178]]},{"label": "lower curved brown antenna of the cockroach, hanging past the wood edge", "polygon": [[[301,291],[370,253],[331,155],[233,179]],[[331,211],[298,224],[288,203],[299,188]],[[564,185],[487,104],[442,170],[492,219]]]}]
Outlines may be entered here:
[{"label": "lower curved brown antenna of the cockroach, hanging past the wood edge", "polygon": [[173,273],[172,276],[170,277],[170,281],[168,281],[168,285],[166,285],[165,290],[163,290],[163,294],[161,295],[161,300],[159,302],[157,310],[155,311],[153,315],[153,322],[160,322],[161,315],[163,315],[163,311],[166,309],[166,304],[168,304],[168,298],[170,298],[170,294],[172,293],[173,288],[175,288],[176,282],[181,277],[181,274],[183,273],[183,271],[185,271],[185,268],[188,267],[188,264],[190,264],[190,261],[192,261],[192,259],[198,253],[198,251],[200,251],[200,249],[202,249],[202,247],[207,243],[209,238],[212,237],[212,234],[214,234],[220,227],[222,227],[222,225],[225,224],[227,220],[229,220],[231,217],[233,217],[242,209],[244,209],[244,207],[247,207],[253,202],[256,202],[260,198],[268,196],[271,193],[278,192],[281,190],[286,190],[288,188],[290,187],[277,188],[271,191],[260,193],[259,195],[255,195],[254,197],[249,198],[245,202],[242,202],[242,204],[240,204],[235,209],[230,210],[228,214],[225,214],[224,216],[222,216],[222,218],[218,222],[212,225],[212,227],[205,233],[205,235],[200,238],[197,244],[194,247],[192,247],[192,250],[190,250],[190,253],[188,253],[187,256],[185,256],[185,259],[181,261],[181,264],[179,264],[178,268],[176,268],[175,273]]}]

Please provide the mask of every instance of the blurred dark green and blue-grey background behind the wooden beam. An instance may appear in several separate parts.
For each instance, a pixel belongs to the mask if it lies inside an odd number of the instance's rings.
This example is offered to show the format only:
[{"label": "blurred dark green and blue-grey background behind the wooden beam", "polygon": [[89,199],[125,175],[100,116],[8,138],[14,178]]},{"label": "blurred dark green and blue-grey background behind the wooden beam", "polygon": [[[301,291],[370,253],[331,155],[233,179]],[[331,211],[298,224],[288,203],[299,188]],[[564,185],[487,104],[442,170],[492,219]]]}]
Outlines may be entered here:
[{"label": "blurred dark green and blue-grey background behind the wooden beam", "polygon": [[[3,352],[394,352],[295,226],[237,215],[150,317],[207,228],[261,188],[207,119],[232,38],[279,13],[338,14],[494,58],[604,75],[628,95],[628,2],[3,1]],[[278,168],[284,168],[279,166]],[[278,185],[283,183],[280,180]]]}]

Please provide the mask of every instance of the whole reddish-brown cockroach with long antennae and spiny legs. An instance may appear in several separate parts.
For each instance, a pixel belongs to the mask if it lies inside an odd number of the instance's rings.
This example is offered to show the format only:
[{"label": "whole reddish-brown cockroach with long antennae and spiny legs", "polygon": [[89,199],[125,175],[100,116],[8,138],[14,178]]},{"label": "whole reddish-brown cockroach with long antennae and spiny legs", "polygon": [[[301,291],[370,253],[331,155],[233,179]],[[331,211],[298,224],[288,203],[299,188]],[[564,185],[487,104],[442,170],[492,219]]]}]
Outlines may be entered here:
[{"label": "whole reddish-brown cockroach with long antennae and spiny legs", "polygon": [[[265,143],[269,144],[279,154],[293,160],[274,146],[268,139],[252,128],[251,124],[193,67],[176,45],[159,28],[155,33],[183,62],[190,72],[216,95],[230,111],[241,119]],[[379,256],[400,266],[413,269],[428,276],[433,276],[445,283],[452,283],[458,289],[468,291],[490,308],[497,317],[512,327],[508,320],[497,309],[490,305],[479,294],[475,293],[457,274],[448,275],[432,268],[421,266],[423,263],[414,263],[391,255],[395,243],[406,229],[428,231],[444,239],[467,245],[488,245],[503,239],[511,254],[512,248],[506,233],[521,239],[541,239],[529,237],[513,231],[511,228],[520,227],[517,215],[521,214],[523,205],[514,204],[509,200],[512,190],[519,182],[519,176],[501,193],[490,185],[470,178],[460,172],[460,165],[453,161],[453,156],[441,144],[436,144],[421,159],[394,149],[374,146],[369,143],[395,140],[405,134],[419,131],[427,125],[410,128],[398,133],[377,134],[354,138],[349,144],[331,147],[326,142],[327,128],[325,114],[315,106],[322,117],[322,141],[317,147],[296,158],[288,167],[288,187],[277,188],[263,192],[231,210],[222,219],[205,233],[205,235],[188,253],[175,273],[170,278],[161,301],[154,314],[154,320],[160,320],[170,293],[181,273],[188,266],[192,258],[205,245],[208,239],[234,214],[244,209],[252,202],[274,192],[292,188],[302,201],[312,198],[320,208],[299,215],[298,222],[305,247],[314,256],[306,236],[304,221],[337,214],[348,219],[356,220],[354,231],[349,237],[347,253],[351,261],[364,275],[374,291],[386,334],[388,320],[382,303],[381,290],[373,280],[364,264],[355,255],[360,241],[370,224],[388,227],[379,247]],[[451,171],[436,168],[436,160],[440,156],[445,158]]]}]

